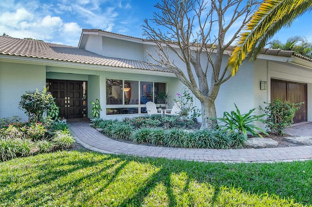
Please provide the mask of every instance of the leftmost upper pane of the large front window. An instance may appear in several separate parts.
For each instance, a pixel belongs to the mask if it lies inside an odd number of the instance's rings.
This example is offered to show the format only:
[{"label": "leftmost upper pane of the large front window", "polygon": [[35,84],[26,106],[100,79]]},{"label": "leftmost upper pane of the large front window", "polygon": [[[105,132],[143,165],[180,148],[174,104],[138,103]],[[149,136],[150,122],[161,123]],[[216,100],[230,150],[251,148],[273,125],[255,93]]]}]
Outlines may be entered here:
[{"label": "leftmost upper pane of the large front window", "polygon": [[122,104],[122,80],[106,79],[106,104]]}]

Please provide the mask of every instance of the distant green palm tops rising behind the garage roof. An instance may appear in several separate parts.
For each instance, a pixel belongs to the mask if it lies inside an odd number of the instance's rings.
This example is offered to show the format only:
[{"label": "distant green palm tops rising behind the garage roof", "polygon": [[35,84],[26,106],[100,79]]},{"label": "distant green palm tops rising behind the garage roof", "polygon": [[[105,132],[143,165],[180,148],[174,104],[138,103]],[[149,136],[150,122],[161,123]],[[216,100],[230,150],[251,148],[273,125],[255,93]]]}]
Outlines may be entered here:
[{"label": "distant green palm tops rising behind the garage roof", "polygon": [[270,48],[280,49],[284,51],[294,51],[307,57],[312,56],[312,43],[307,41],[307,38],[302,36],[289,37],[286,43],[274,39],[270,42]]}]

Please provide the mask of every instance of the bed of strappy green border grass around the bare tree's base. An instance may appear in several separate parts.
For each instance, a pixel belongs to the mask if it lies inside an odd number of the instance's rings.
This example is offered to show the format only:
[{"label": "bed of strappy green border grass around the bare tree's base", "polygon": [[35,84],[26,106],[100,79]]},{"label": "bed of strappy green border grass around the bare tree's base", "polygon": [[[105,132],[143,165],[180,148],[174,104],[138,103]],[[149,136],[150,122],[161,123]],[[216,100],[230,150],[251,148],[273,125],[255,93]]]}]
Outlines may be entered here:
[{"label": "bed of strappy green border grass around the bare tree's base", "polygon": [[247,141],[246,136],[235,132],[189,129],[186,126],[194,124],[186,122],[179,117],[152,116],[123,121],[95,119],[93,126],[110,138],[167,147],[230,149],[242,148]]}]

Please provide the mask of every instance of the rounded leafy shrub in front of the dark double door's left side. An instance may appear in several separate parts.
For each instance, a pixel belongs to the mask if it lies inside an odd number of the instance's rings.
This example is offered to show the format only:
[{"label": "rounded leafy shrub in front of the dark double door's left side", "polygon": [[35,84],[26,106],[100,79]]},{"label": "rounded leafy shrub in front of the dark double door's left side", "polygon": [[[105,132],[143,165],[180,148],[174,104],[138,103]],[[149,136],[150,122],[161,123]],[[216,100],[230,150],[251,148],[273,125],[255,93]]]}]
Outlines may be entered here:
[{"label": "rounded leafy shrub in front of the dark double door's left side", "polygon": [[24,110],[28,116],[28,120],[38,122],[43,118],[44,113],[50,110],[53,106],[54,98],[46,87],[42,91],[26,91],[26,94],[21,96],[19,108]]}]

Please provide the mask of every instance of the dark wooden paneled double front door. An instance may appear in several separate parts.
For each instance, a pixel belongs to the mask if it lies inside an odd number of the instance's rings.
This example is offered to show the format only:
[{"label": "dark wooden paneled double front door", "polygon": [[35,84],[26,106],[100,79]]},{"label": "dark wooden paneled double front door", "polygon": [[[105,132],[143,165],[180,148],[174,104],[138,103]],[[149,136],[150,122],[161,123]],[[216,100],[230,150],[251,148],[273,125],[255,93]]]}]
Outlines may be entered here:
[{"label": "dark wooden paneled double front door", "polygon": [[48,80],[49,91],[59,106],[59,117],[83,118],[83,82]]}]

